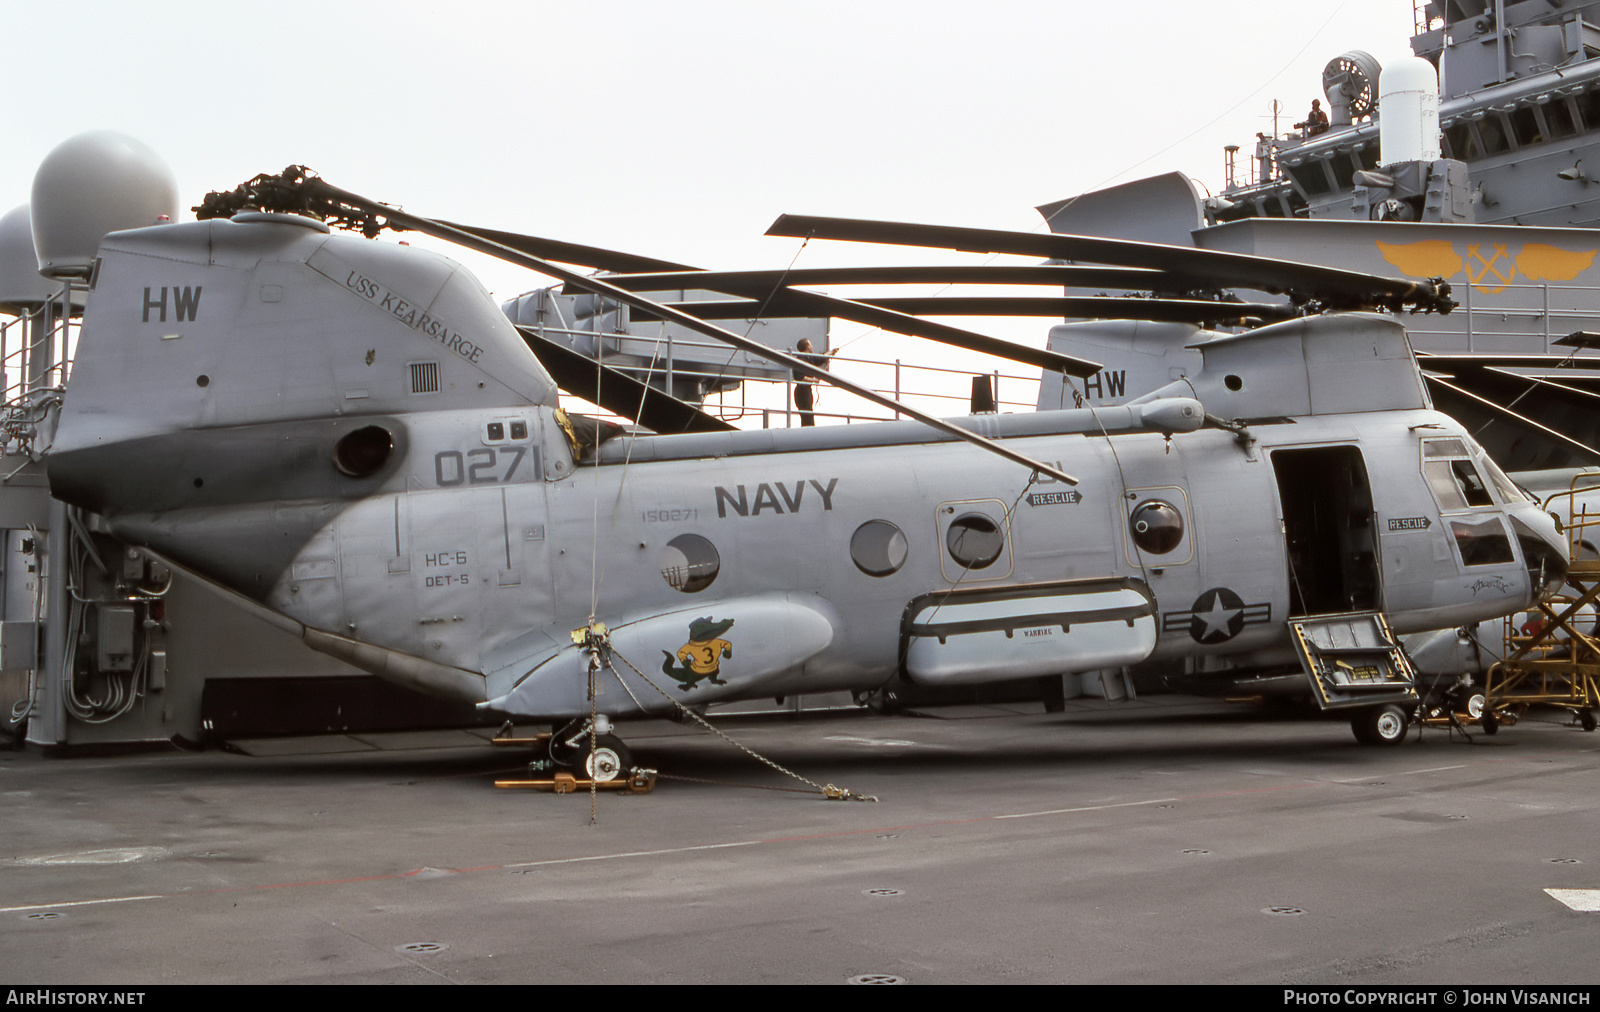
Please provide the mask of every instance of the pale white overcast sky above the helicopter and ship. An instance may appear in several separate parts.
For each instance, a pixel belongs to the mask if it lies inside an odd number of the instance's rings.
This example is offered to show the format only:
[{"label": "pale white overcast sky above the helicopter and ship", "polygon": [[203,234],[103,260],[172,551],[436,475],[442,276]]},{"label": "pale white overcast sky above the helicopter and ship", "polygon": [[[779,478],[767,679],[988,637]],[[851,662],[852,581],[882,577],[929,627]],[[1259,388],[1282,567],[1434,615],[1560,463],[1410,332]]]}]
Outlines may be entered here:
[{"label": "pale white overcast sky above the helicopter and ship", "polygon": [[[1146,175],[1214,192],[1274,99],[1288,130],[1334,56],[1406,54],[1413,3],[0,0],[0,211],[56,144],[117,130],[168,160],[186,219],[302,163],[424,216],[754,269],[963,263],[763,237],[786,211],[1035,231],[1034,207]],[[499,298],[544,283],[451,255]],[[835,322],[843,343],[958,360]]]}]

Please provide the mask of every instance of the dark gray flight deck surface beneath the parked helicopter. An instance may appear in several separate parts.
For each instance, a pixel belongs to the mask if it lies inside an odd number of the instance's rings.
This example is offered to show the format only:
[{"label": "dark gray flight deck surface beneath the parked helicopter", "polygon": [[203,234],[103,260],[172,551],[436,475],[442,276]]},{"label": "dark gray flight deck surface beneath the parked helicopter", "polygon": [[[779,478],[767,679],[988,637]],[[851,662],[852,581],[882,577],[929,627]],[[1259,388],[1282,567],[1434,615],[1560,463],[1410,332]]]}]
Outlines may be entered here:
[{"label": "dark gray flight deck surface beneath the parked helicopter", "polygon": [[[0,753],[3,983],[1594,983],[1600,737],[1182,697],[624,724],[653,794],[467,732]],[[1549,721],[1541,717],[1547,716]],[[280,754],[266,754],[280,753]],[[787,781],[794,783],[794,781]]]}]

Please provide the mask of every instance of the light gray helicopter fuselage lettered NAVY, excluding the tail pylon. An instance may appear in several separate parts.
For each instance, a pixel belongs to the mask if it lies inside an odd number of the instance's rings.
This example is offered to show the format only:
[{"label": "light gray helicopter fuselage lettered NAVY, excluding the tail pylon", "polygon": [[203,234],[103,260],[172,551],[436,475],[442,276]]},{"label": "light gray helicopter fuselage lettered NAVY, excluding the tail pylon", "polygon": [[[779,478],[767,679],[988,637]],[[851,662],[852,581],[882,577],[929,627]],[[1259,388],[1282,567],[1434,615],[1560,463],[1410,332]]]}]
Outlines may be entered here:
[{"label": "light gray helicopter fuselage lettered NAVY, excluding the tail pylon", "polygon": [[[621,658],[691,703],[883,684],[901,671],[917,600],[944,591],[955,592],[946,607],[963,592],[1045,600],[1011,636],[984,647],[982,663],[965,676],[920,681],[1072,669],[1078,658],[1037,641],[1059,637],[1075,599],[1106,580],[1146,589],[1160,623],[1154,644],[1130,645],[1131,653],[1112,660],[1290,661],[1283,620],[1306,607],[1291,612],[1278,455],[1320,453],[1370,469],[1360,476],[1370,482],[1370,504],[1344,506],[1362,522],[1315,533],[1355,540],[1339,551],[1365,552],[1350,567],[1368,565],[1374,584],[1363,589],[1363,576],[1347,573],[1307,578],[1338,584],[1339,604],[1326,610],[1382,608],[1398,632],[1477,621],[1531,600],[1528,543],[1514,554],[1517,540],[1504,538],[1501,556],[1469,564],[1451,543],[1451,522],[1506,530],[1512,514],[1547,525],[1531,504],[1504,495],[1442,511],[1424,479],[1424,440],[1466,437],[1426,410],[1261,426],[1253,453],[1219,429],[1171,442],[1078,432],[1024,440],[1026,452],[1075,471],[1075,488],[1030,484],[1014,464],[957,444],[590,464],[541,480],[536,468],[522,474],[522,447],[482,437],[485,426],[509,420],[480,416],[477,432],[426,432],[427,423],[445,421],[432,418],[413,426],[408,490],[341,511],[307,541],[267,604],[307,624],[482,671],[486,700],[558,716],[587,709],[578,650],[563,639],[590,616],[613,631],[654,626],[640,631],[638,649],[619,647]],[[672,442],[648,442],[658,440]],[[526,458],[536,460],[534,447]],[[466,484],[474,480],[470,461],[483,463],[475,487]],[[1382,461],[1403,464],[1384,469]],[[1331,508],[1338,492],[1328,495]],[[1182,525],[1162,552],[1141,549],[1130,524],[1150,501],[1170,504]],[[950,551],[950,525],[963,517],[992,520],[998,532],[1000,548],[982,567],[965,567]],[[888,573],[872,560],[858,564],[862,552],[851,551],[858,532],[883,525],[904,538],[904,560]],[[1373,528],[1376,541],[1362,541]],[[693,549],[675,548],[683,538],[709,548],[712,568],[699,573],[701,584],[674,578],[678,556],[693,560]],[[747,605],[760,607],[744,628],[811,624],[818,634],[786,645],[742,639]],[[734,645],[734,658],[720,665],[726,685],[678,690],[661,677],[662,652],[675,655],[694,620],[725,616],[736,618],[722,637]],[[563,653],[568,663],[539,674]],[[640,701],[659,705],[650,695]],[[634,709],[614,690],[608,706]]]}]

